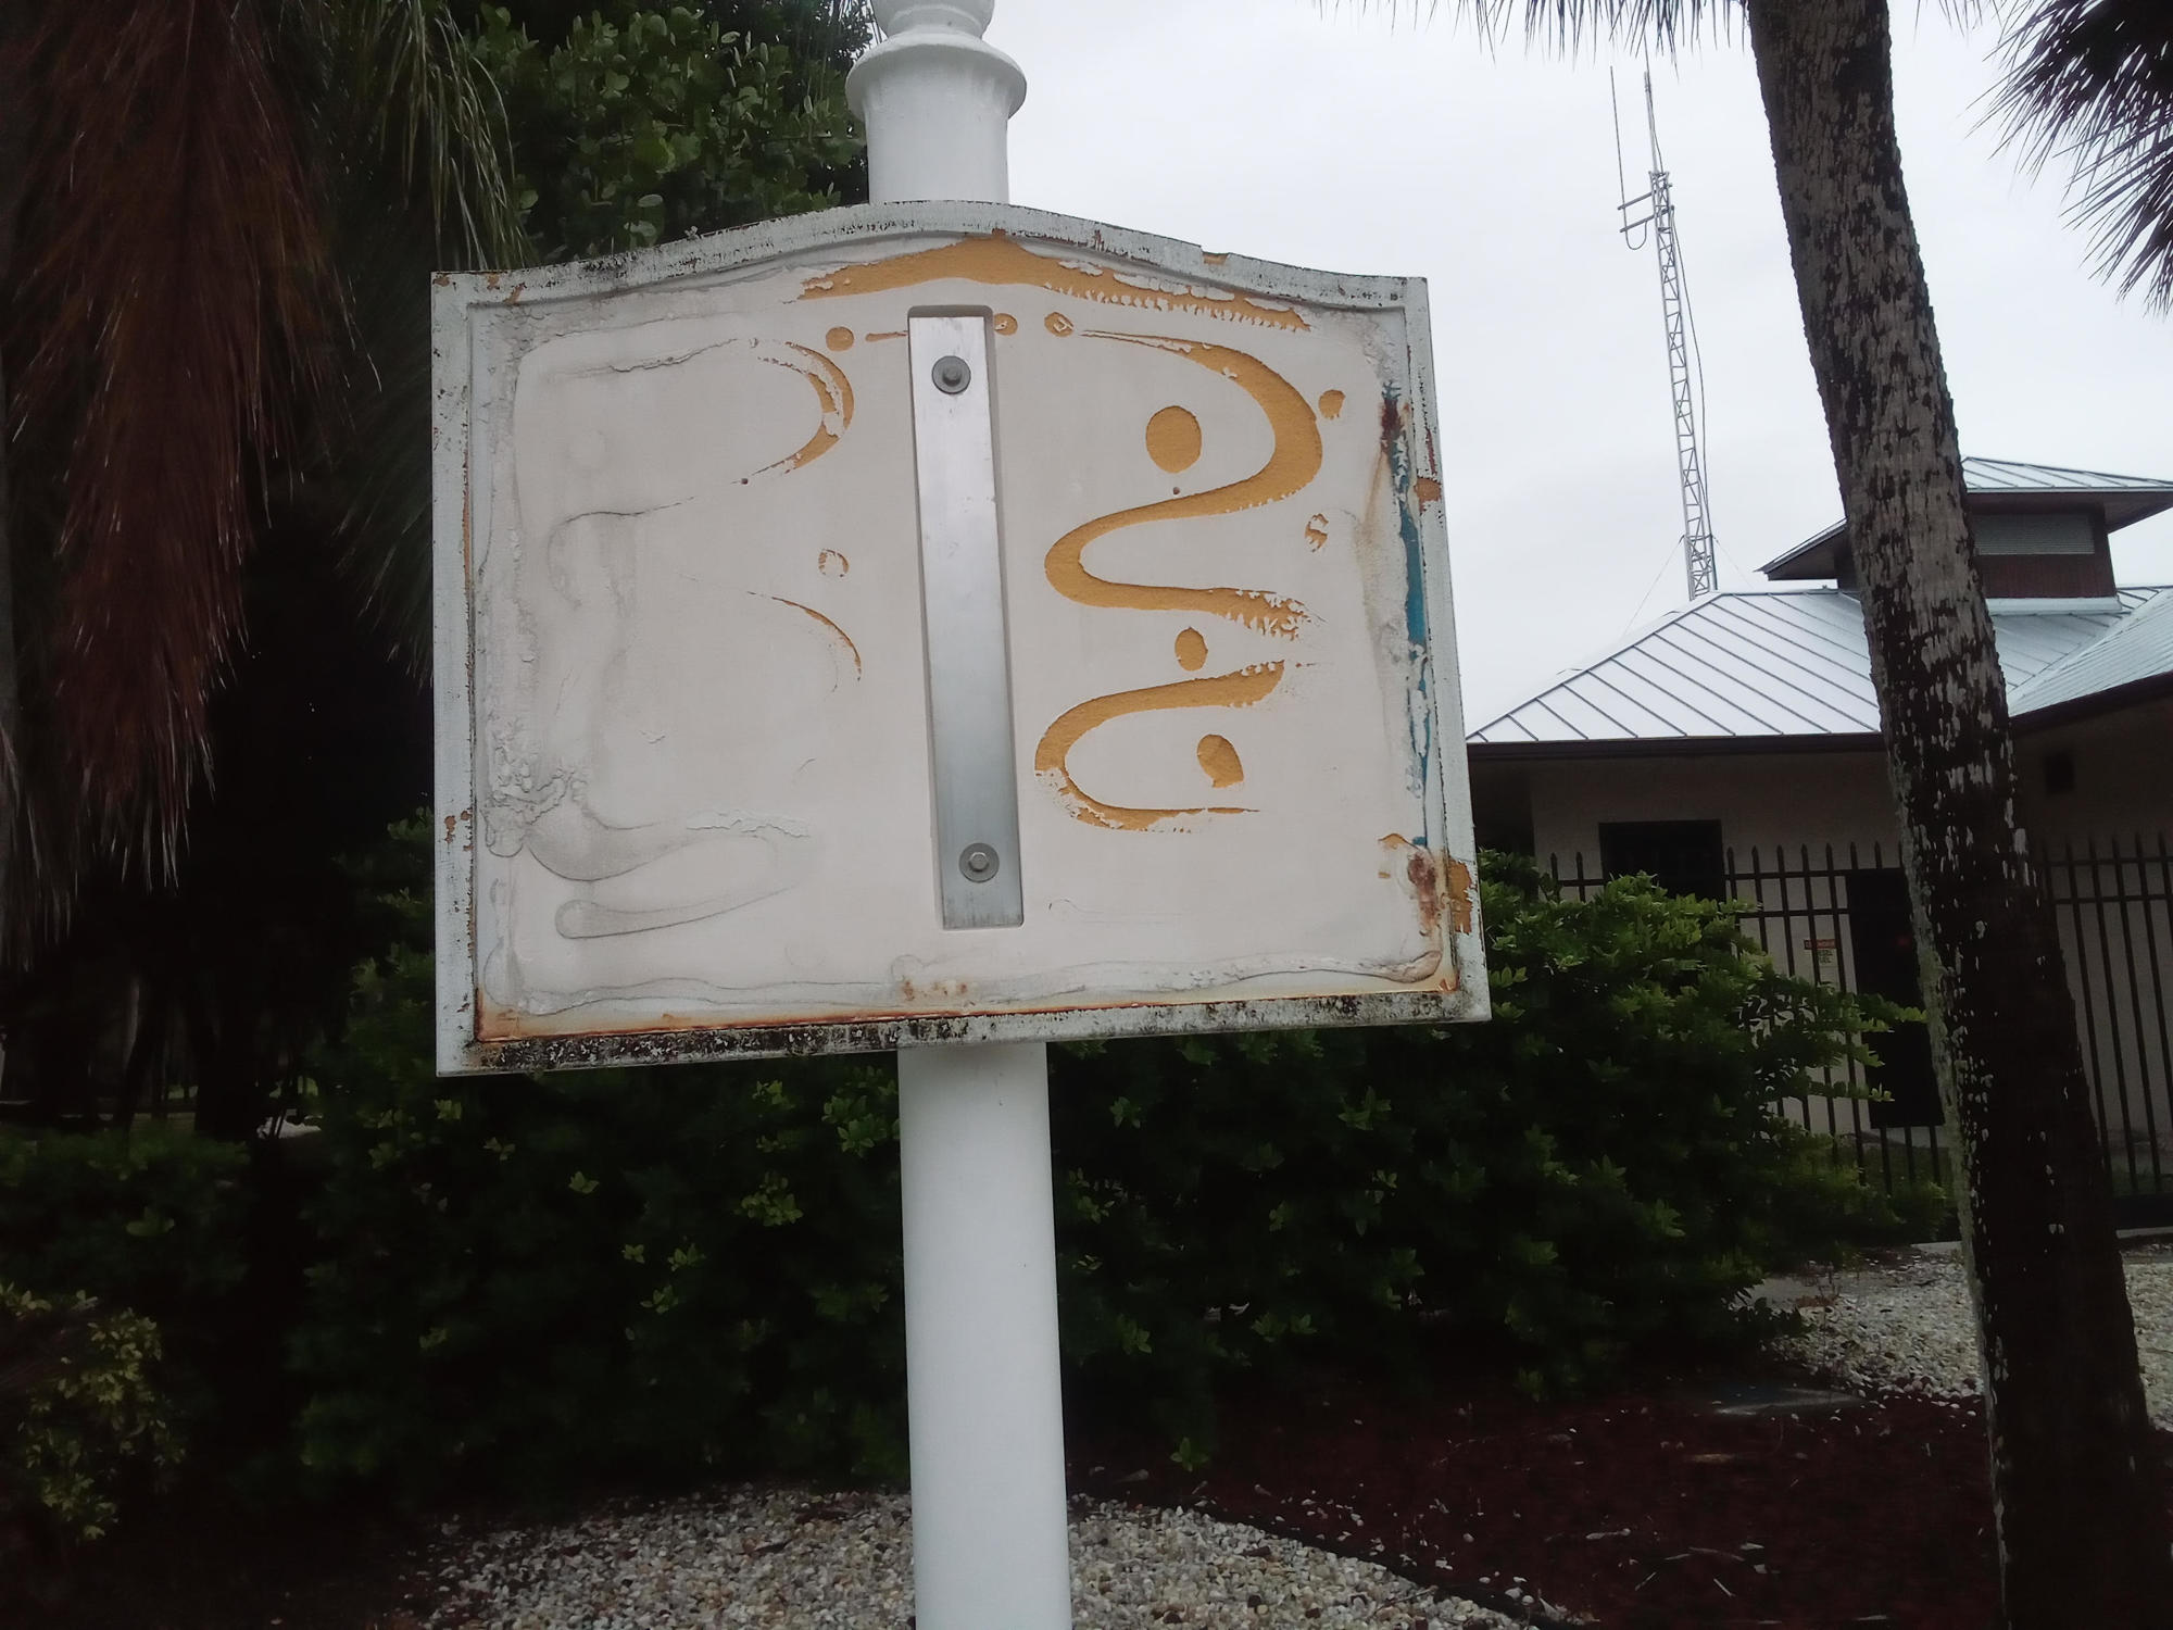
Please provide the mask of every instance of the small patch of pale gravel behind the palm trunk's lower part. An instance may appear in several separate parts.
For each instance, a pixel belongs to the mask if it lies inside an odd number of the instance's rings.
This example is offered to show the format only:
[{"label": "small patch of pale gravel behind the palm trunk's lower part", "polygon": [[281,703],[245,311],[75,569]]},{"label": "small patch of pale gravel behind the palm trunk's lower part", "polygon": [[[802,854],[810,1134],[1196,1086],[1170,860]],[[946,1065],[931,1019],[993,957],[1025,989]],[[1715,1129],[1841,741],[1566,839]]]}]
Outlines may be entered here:
[{"label": "small patch of pale gravel behind the palm trunk's lower part", "polygon": [[[1962,1400],[1982,1391],[1977,1326],[1958,1252],[1912,1252],[1899,1263],[1780,1287],[1810,1328],[1775,1350],[1869,1393]],[[2127,1252],[2127,1306],[2151,1419],[2173,1428],[2173,1250]]]}]

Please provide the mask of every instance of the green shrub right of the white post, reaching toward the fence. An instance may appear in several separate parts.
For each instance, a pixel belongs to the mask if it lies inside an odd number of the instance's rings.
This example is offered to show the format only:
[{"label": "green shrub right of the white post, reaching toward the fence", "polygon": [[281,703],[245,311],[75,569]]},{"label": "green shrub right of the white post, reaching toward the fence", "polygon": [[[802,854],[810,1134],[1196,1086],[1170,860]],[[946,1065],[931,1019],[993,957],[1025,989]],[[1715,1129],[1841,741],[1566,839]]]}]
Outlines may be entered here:
[{"label": "green shrub right of the white post, reaching toward the fence", "polygon": [[1736,1337],[1769,1263],[1893,1224],[1773,1115],[1875,1015],[1645,880],[1571,902],[1489,856],[1482,887],[1489,1024],[1063,1050],[1089,1374],[1176,1430],[1215,1369],[1417,1363],[1423,1315],[1506,1337],[1530,1387],[1582,1387]]}]

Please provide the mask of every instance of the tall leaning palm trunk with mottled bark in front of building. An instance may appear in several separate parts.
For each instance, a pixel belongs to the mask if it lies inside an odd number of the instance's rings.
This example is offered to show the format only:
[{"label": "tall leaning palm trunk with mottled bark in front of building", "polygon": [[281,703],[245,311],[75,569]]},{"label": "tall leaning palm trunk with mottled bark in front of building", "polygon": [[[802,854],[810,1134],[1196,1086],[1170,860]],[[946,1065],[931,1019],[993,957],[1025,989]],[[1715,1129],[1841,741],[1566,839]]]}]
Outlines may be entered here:
[{"label": "tall leaning palm trunk with mottled bark in front of building", "polygon": [[2173,1623],[2112,1191],[1895,139],[1886,0],[1749,0],[1804,333],[1862,580],[1932,1048],[1962,1163],[2010,1630]]}]

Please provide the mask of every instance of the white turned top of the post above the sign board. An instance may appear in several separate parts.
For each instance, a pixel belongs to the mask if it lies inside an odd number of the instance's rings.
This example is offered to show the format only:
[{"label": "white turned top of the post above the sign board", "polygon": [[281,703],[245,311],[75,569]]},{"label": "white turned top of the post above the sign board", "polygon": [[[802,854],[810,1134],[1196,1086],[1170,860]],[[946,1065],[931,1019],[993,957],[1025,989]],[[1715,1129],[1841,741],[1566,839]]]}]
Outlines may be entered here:
[{"label": "white turned top of the post above the sign board", "polygon": [[982,39],[993,13],[995,0],[876,0],[882,39],[845,78],[867,122],[869,202],[1010,202],[1004,126],[1026,74]]}]

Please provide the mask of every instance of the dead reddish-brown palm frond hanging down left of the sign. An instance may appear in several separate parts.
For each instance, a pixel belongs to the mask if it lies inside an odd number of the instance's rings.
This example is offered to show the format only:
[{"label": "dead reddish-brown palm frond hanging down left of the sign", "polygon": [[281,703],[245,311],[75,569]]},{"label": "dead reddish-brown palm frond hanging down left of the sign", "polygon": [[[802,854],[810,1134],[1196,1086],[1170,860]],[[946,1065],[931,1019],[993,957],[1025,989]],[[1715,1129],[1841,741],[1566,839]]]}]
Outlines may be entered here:
[{"label": "dead reddish-brown palm frond hanging down left of the sign", "polygon": [[313,178],[254,0],[70,0],[33,39],[13,428],[63,441],[43,650],[56,761],[172,858],[241,613],[252,456],[326,376]]}]

